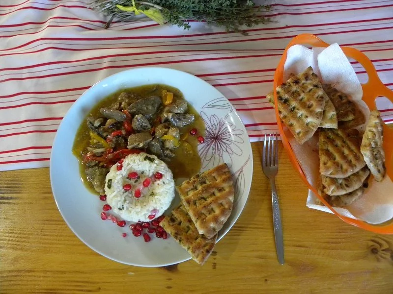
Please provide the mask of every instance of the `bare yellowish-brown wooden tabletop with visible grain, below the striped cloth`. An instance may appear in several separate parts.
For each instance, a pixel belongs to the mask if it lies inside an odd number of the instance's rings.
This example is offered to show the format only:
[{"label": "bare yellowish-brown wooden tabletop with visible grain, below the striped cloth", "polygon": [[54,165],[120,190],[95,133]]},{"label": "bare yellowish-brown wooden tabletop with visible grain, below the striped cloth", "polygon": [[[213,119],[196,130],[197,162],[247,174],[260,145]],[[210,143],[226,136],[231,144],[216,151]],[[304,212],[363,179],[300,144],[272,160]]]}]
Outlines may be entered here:
[{"label": "bare yellowish-brown wooden tabletop with visible grain, below the striped cloth", "polygon": [[203,267],[113,262],[61,218],[49,169],[0,172],[0,293],[393,293],[393,236],[306,207],[307,189],[280,148],[285,264],[276,257],[262,144],[253,143],[247,205]]}]

